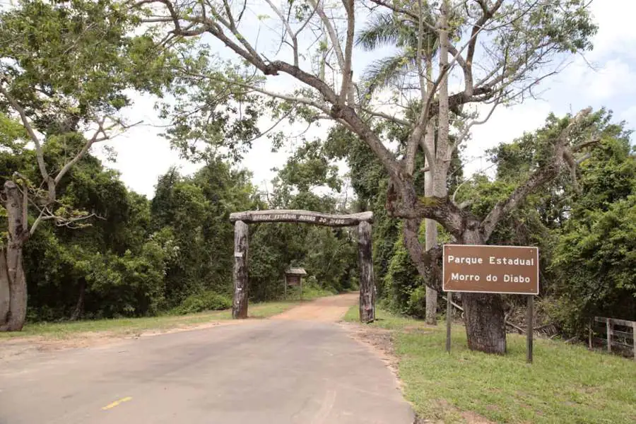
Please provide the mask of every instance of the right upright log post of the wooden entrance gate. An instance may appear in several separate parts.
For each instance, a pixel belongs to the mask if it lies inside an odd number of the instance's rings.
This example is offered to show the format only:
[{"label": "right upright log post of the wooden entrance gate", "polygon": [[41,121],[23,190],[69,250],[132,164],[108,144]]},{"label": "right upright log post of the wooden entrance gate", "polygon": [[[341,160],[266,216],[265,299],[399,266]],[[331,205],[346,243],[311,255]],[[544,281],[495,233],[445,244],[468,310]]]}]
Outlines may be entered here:
[{"label": "right upright log post of the wooden entrance gate", "polygon": [[373,259],[371,224],[358,224],[358,261],[360,262],[360,322],[375,319],[375,284],[373,282]]}]

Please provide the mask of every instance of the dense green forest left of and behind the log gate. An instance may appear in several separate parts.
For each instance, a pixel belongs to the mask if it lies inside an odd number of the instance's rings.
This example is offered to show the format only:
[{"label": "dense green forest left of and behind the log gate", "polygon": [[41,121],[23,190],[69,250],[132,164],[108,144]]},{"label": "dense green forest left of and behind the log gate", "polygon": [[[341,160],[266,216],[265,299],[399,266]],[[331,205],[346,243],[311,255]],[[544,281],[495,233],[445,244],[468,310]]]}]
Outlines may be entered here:
[{"label": "dense green forest left of and behind the log gate", "polygon": [[[28,163],[30,151],[2,155],[2,175]],[[57,152],[47,152],[54,163]],[[20,175],[37,173],[18,167]],[[4,181],[3,181],[4,183]],[[334,212],[336,199],[278,179],[269,201],[249,172],[207,160],[191,176],[170,169],[153,199],[126,189],[117,172],[86,155],[58,186],[64,207],[90,211],[81,224],[43,223],[24,250],[28,320],[139,317],[199,312],[231,305],[234,226],[229,214],[256,208]],[[30,216],[30,220],[35,220]],[[357,251],[346,229],[254,225],[250,280],[253,301],[283,297],[286,266],[299,264],[307,283],[332,293],[355,288]],[[291,294],[291,293],[290,293]]]}]

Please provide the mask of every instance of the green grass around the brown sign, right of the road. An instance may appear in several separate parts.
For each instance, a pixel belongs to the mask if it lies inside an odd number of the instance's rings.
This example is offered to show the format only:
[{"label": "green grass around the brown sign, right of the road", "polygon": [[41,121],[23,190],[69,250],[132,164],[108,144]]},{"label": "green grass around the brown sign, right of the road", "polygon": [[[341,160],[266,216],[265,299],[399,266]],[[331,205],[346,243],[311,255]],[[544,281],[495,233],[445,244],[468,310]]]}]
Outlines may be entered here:
[{"label": "green grass around the brown sign, right of the road", "polygon": [[[589,352],[561,341],[535,341],[534,364],[525,363],[525,339],[508,336],[500,357],[466,348],[464,328],[413,331],[425,325],[379,311],[372,324],[394,330],[405,396],[423,418],[472,422],[473,414],[496,423],[635,423],[636,363]],[[358,320],[357,307],[345,317]]]}]

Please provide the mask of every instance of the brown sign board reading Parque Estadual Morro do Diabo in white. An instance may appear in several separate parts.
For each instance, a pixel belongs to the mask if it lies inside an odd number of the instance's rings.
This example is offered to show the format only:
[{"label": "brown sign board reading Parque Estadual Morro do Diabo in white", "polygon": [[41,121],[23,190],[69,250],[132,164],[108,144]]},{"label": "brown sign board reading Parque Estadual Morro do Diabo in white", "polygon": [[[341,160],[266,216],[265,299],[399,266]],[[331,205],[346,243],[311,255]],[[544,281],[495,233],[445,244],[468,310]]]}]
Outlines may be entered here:
[{"label": "brown sign board reading Parque Estadual Morro do Diabo in white", "polygon": [[538,295],[538,247],[444,245],[442,289]]}]

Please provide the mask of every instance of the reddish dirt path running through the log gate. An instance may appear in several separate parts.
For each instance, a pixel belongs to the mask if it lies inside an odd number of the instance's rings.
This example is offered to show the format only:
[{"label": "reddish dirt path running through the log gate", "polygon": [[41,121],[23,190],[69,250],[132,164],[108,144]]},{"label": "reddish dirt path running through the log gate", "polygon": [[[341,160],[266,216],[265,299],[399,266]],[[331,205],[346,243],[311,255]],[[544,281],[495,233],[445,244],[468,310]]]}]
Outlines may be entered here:
[{"label": "reddish dirt path running through the log gate", "polygon": [[271,319],[288,319],[293,321],[338,322],[344,317],[350,307],[357,305],[360,299],[358,293],[329,296],[293,307]]}]

